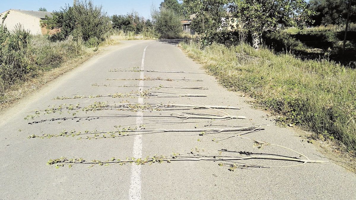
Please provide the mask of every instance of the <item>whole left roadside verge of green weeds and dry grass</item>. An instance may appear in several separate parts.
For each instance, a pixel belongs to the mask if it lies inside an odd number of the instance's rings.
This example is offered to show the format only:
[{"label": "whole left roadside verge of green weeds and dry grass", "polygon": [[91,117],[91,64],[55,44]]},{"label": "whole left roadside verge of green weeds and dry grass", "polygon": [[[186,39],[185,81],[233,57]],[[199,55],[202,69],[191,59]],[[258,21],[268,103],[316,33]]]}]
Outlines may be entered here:
[{"label": "whole left roadside verge of green weeds and dry grass", "polygon": [[[98,47],[87,47],[72,38],[58,42],[49,41],[46,36],[28,35],[26,40],[20,41],[15,38],[20,45],[26,42],[26,46],[21,47],[21,54],[12,51],[14,47],[7,48],[5,51],[1,49],[2,52],[7,53],[7,57],[4,56],[3,62],[0,63],[0,112],[46,83],[78,67],[106,47],[120,44],[121,40],[154,39],[151,36],[144,38],[139,36],[112,34]],[[2,45],[6,46],[6,41]],[[8,60],[13,60],[13,63],[4,63]]]}]

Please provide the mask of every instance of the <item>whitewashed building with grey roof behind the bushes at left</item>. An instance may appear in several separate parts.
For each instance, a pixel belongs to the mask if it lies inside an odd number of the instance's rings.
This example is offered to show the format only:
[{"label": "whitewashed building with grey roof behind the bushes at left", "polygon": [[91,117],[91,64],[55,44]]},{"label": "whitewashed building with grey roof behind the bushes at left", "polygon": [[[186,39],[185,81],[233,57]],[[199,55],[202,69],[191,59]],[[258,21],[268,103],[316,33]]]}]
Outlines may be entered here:
[{"label": "whitewashed building with grey roof behind the bushes at left", "polygon": [[20,23],[25,30],[29,30],[33,35],[46,35],[48,30],[40,25],[41,21],[46,19],[46,15],[52,16],[52,12],[11,9],[0,14],[0,22],[4,22],[9,31],[13,31],[15,26]]}]

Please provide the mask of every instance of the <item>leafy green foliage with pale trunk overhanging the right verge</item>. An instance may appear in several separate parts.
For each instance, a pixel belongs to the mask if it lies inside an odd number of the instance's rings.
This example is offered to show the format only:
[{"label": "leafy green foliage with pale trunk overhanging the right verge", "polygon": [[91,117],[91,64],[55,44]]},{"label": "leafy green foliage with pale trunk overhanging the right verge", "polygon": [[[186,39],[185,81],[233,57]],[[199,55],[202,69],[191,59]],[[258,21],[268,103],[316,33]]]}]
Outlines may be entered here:
[{"label": "leafy green foliage with pale trunk overhanging the right verge", "polygon": [[214,42],[221,30],[239,27],[240,33],[243,31],[251,36],[255,49],[260,46],[262,34],[278,32],[281,30],[279,24],[299,26],[313,14],[305,0],[183,0],[183,5],[189,14],[197,16],[196,19],[208,16],[213,26],[200,33],[204,40]]}]

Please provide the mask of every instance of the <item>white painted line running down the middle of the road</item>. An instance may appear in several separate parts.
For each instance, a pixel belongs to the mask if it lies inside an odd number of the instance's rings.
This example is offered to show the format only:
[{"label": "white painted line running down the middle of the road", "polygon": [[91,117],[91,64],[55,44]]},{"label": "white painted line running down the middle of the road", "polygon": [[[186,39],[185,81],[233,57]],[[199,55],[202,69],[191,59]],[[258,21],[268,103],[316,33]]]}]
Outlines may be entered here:
[{"label": "white painted line running down the middle of the road", "polygon": [[[153,42],[152,42],[153,43]],[[151,44],[152,44],[151,43]],[[142,62],[141,62],[141,70],[145,67],[145,55],[146,55],[146,49],[147,47],[150,46],[148,44],[145,49],[143,50],[143,55],[142,55]],[[143,88],[143,78],[144,78],[144,72],[142,71],[140,73],[140,83],[139,83],[139,90],[141,91]],[[143,104],[143,98],[139,97],[138,98],[138,103]],[[143,123],[143,112],[136,112],[136,125],[140,126]],[[134,158],[141,158],[142,157],[142,135],[136,135],[135,136],[135,141],[133,142],[133,151],[132,151],[132,157]],[[141,200],[141,165],[137,165],[135,163],[132,163],[131,165],[131,180],[130,180],[130,190],[129,190],[129,199],[132,200]]]}]

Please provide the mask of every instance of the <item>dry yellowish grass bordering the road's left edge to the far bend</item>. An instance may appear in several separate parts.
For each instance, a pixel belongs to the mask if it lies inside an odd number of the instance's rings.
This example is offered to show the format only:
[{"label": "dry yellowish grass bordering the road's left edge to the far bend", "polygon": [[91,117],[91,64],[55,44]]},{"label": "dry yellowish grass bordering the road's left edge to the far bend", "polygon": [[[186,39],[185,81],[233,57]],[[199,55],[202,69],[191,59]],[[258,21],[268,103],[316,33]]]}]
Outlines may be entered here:
[{"label": "dry yellowish grass bordering the road's left edge to the far bend", "polygon": [[[107,36],[106,40],[100,43],[99,46],[104,48],[117,45],[121,40],[149,39],[156,38],[148,32],[142,35],[135,35],[133,32],[124,33],[119,31]],[[40,89],[46,83],[78,67],[97,54],[98,49],[99,47],[85,47],[71,38],[61,42],[51,42],[44,36],[32,37],[27,51],[31,52],[31,59],[36,60],[36,62],[33,62],[35,68],[30,73],[20,77],[15,83],[7,84],[6,90],[1,91],[0,112],[11,107],[19,99]]]}]

